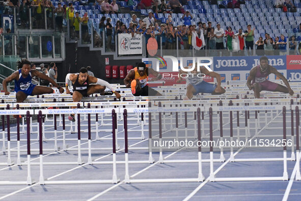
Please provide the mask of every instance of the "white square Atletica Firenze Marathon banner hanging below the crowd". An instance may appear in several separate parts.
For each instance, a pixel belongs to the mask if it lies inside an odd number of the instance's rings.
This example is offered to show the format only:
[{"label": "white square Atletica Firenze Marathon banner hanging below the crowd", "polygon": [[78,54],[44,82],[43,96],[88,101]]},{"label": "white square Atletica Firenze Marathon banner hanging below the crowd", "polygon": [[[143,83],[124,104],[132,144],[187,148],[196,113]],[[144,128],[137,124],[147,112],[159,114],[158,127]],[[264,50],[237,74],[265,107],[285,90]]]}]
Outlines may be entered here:
[{"label": "white square Atletica Firenze Marathon banner hanging below the crowd", "polygon": [[141,55],[142,46],[141,34],[118,34],[119,55]]}]

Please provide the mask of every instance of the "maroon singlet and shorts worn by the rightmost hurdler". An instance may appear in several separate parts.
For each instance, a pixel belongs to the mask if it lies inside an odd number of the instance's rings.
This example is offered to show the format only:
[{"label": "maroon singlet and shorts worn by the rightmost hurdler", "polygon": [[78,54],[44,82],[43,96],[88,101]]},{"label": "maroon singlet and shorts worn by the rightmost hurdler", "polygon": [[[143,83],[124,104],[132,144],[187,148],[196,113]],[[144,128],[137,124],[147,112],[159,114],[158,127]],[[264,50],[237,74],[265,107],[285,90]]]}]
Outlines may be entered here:
[{"label": "maroon singlet and shorts worn by the rightmost hurdler", "polygon": [[261,72],[259,65],[255,66],[254,68],[256,68],[256,75],[255,78],[252,80],[252,85],[254,83],[257,83],[261,85],[261,90],[275,91],[278,87],[278,84],[266,80],[266,77],[269,75],[269,68],[266,68],[265,72]]}]

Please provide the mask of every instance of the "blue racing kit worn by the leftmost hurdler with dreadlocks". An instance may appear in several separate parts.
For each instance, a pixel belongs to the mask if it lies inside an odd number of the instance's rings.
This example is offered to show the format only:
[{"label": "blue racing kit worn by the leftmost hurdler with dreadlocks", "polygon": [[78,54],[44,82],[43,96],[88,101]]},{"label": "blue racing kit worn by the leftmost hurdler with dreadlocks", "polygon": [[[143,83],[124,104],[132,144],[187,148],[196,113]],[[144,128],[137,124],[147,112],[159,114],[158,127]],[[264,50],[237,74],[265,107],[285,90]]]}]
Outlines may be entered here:
[{"label": "blue racing kit worn by the leftmost hurdler with dreadlocks", "polygon": [[29,72],[29,75],[26,78],[23,78],[21,69],[19,72],[19,80],[15,80],[15,92],[22,91],[26,95],[32,95],[36,85],[32,84],[32,72]]}]

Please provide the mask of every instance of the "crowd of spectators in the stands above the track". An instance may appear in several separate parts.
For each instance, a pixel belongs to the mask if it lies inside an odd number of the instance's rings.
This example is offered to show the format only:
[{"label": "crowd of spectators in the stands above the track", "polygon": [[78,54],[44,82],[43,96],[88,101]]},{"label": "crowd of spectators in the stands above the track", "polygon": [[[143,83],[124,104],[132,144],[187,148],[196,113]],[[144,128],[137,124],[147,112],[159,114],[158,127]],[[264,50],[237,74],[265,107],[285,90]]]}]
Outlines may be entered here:
[{"label": "crowd of spectators in the stands above the track", "polygon": [[[135,2],[134,2],[135,1]],[[191,0],[190,0],[191,1]],[[249,1],[249,0],[245,0]],[[211,5],[218,5],[219,8],[239,8],[245,1],[208,1]],[[86,2],[54,2],[50,0],[6,0],[5,10],[11,12],[10,9],[16,8],[19,13],[20,23],[22,27],[28,26],[29,9],[31,9],[32,24],[34,28],[43,28],[44,26],[44,9],[46,9],[47,26],[52,27],[52,22],[55,21],[56,28],[59,32],[63,31],[63,21],[69,24],[70,38],[79,38],[79,24],[81,24],[81,39],[83,42],[91,42],[91,24],[93,26],[94,15],[102,14],[101,18],[97,18],[97,30],[92,33],[94,46],[102,46],[102,33],[105,35],[105,46],[110,51],[114,49],[112,41],[115,35],[120,33],[143,34],[146,38],[146,43],[150,37],[157,40],[158,44],[162,44],[162,49],[192,49],[191,37],[196,33],[198,37],[204,37],[206,43],[203,49],[229,49],[230,51],[242,51],[243,49],[253,49],[256,45],[257,55],[272,54],[272,50],[279,49],[280,54],[285,54],[289,48],[290,53],[300,54],[301,45],[298,44],[296,35],[287,37],[287,35],[270,37],[269,33],[255,38],[255,28],[249,24],[247,27],[241,27],[236,33],[231,26],[223,26],[214,24],[210,21],[202,22],[201,19],[196,19],[187,10],[189,0],[141,0],[137,3],[136,0],[127,0],[126,5],[131,6],[136,4],[138,9],[149,9],[148,16],[138,18],[135,14],[131,15],[131,20],[125,22],[123,20],[114,21],[112,15],[121,12],[120,1],[116,0],[88,0]],[[80,10],[80,6],[91,8],[89,10]],[[283,12],[296,12],[296,6],[291,0],[276,0],[273,7],[283,9]],[[198,7],[202,9],[201,7]],[[44,11],[45,12],[45,11]],[[183,24],[175,23],[172,15],[181,14]],[[52,20],[55,14],[55,20]],[[110,15],[111,14],[111,15]],[[160,16],[168,15],[165,21],[162,21]],[[103,16],[104,15],[104,16]],[[165,19],[165,18],[164,18]],[[91,20],[93,21],[91,23]],[[113,20],[113,21],[112,21]],[[96,21],[96,20],[95,20]],[[89,24],[91,23],[91,24]],[[225,30],[224,30],[225,29]],[[238,29],[236,27],[236,29]],[[299,29],[301,30],[301,23]],[[264,37],[264,38],[263,38]],[[178,44],[177,44],[178,43]],[[288,43],[288,44],[287,44]]]}]

